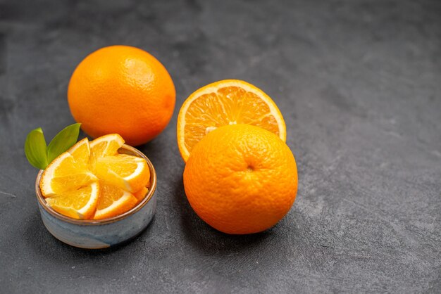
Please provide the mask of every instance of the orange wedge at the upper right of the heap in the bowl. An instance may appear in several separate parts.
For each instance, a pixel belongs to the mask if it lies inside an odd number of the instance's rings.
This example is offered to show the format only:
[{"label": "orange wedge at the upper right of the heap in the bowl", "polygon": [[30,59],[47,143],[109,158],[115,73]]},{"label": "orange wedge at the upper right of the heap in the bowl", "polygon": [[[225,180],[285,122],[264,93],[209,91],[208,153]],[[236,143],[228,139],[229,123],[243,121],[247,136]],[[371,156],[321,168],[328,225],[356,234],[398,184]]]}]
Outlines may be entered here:
[{"label": "orange wedge at the upper right of the heap in the bowl", "polygon": [[149,184],[150,171],[144,158],[118,154],[97,158],[95,174],[108,184],[135,192]]}]

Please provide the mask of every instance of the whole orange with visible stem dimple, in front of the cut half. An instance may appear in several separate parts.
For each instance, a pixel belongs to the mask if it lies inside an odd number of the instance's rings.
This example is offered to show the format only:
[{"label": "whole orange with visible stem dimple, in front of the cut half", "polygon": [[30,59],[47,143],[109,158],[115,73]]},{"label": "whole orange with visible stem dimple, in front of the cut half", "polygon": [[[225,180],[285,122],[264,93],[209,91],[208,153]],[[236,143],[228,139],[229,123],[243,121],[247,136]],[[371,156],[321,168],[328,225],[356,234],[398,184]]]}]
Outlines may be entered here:
[{"label": "whole orange with visible stem dimple, in front of the cut half", "polygon": [[275,134],[249,124],[215,129],[194,147],[184,170],[193,210],[227,234],[251,234],[276,224],[297,194],[297,166]]}]

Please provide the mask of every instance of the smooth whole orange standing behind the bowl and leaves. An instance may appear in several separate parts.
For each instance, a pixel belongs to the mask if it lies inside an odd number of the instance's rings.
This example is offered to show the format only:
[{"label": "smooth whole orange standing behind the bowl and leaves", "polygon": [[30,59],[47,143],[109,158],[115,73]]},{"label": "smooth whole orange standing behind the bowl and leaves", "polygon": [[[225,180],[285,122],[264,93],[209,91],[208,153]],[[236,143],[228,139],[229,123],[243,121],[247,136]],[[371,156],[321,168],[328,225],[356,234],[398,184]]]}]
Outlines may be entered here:
[{"label": "smooth whole orange standing behind the bowl and leaves", "polygon": [[175,86],[166,68],[146,51],[108,46],[94,51],[70,78],[70,112],[96,138],[117,133],[136,146],[167,126],[175,108]]}]

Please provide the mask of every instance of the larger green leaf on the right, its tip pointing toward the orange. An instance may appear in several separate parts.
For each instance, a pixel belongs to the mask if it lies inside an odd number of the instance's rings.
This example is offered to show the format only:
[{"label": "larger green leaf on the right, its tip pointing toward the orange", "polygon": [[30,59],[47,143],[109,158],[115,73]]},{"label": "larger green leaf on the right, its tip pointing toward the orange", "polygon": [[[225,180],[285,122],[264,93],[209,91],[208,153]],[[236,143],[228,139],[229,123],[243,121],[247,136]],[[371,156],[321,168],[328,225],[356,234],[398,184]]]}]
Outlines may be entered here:
[{"label": "larger green leaf on the right, its tip pointing toward the orange", "polygon": [[49,162],[77,143],[78,134],[80,134],[80,125],[80,123],[70,124],[70,126],[65,127],[54,136],[54,139],[52,139],[49,146],[47,146],[47,158]]}]

